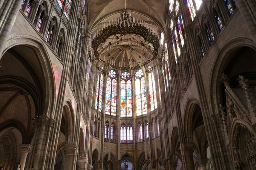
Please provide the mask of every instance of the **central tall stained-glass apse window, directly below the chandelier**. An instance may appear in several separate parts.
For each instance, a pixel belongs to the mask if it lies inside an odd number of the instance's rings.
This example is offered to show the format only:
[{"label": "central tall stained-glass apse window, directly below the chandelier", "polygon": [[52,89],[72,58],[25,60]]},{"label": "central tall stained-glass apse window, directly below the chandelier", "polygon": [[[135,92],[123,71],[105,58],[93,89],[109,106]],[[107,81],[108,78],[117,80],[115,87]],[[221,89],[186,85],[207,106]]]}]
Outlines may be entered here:
[{"label": "central tall stained-glass apse window, directly below the chandelier", "polygon": [[131,74],[128,70],[125,70],[121,74],[120,83],[120,115],[121,117],[132,116],[132,94],[131,94]]}]

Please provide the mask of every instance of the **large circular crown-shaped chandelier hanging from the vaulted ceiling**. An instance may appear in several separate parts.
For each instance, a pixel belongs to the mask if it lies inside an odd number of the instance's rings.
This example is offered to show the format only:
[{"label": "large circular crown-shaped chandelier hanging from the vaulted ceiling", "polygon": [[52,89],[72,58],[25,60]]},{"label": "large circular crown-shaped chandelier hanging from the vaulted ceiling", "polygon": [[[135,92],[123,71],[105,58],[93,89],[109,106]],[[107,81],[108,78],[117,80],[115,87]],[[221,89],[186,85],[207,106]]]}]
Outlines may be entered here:
[{"label": "large circular crown-shaped chandelier hanging from the vaulted ceiling", "polygon": [[97,60],[116,70],[139,69],[159,57],[158,33],[128,9],[106,22],[91,35],[90,61]]}]

